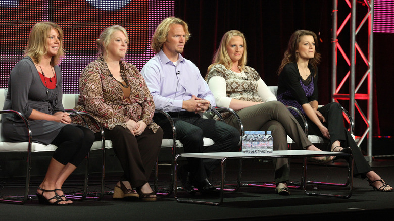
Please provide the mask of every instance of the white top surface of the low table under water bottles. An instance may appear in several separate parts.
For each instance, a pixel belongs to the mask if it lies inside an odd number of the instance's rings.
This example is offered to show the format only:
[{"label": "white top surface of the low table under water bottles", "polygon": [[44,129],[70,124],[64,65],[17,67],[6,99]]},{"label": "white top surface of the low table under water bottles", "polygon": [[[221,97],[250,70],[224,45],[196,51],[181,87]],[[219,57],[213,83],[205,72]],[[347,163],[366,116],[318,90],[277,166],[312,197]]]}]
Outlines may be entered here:
[{"label": "white top surface of the low table under water bottles", "polygon": [[224,159],[224,158],[283,158],[283,157],[315,157],[338,156],[348,153],[313,151],[313,150],[274,150],[272,153],[242,153],[242,152],[217,152],[217,153],[182,153],[182,157]]}]

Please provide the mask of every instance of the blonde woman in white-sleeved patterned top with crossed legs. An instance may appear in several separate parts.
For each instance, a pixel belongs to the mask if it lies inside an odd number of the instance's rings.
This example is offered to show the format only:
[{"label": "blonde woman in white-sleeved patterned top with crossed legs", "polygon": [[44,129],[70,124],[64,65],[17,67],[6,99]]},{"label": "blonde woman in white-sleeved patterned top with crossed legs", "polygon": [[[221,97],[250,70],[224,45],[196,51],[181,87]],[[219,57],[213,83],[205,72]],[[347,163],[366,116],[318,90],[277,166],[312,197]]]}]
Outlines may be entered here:
[{"label": "blonde woman in white-sleeved patterned top with crossed legs", "polygon": [[[244,129],[272,131],[274,150],[287,150],[287,134],[299,148],[320,151],[306,138],[297,120],[287,111],[286,106],[276,101],[255,69],[246,66],[247,50],[243,33],[231,30],[224,34],[216,51],[213,64],[208,67],[205,77],[215,96],[218,107],[230,107],[239,115]],[[232,116],[225,121],[236,126]],[[330,157],[317,157],[321,163],[331,161]],[[288,159],[277,159],[275,163],[275,192],[290,195]]]}]

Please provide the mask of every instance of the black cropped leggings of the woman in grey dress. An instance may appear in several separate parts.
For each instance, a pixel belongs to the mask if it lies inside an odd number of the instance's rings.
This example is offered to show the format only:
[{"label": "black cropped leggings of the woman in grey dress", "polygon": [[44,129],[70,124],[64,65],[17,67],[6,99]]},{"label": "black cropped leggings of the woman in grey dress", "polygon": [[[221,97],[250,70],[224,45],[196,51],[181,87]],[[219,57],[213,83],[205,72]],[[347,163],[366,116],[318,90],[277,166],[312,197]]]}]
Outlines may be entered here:
[{"label": "black cropped leggings of the woman in grey dress", "polygon": [[55,150],[53,158],[66,165],[71,163],[76,167],[86,157],[94,141],[93,132],[83,126],[66,125],[52,144],[58,148]]}]

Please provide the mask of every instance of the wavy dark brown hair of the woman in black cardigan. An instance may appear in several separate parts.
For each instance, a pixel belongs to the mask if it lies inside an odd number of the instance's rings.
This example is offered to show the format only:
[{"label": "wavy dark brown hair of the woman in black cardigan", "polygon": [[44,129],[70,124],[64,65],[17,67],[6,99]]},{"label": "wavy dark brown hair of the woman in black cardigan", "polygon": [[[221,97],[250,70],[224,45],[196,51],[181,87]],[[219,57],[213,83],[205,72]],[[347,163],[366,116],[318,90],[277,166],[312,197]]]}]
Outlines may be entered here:
[{"label": "wavy dark brown hair of the woman in black cardigan", "polygon": [[[315,57],[309,59],[308,65],[311,65],[313,69],[316,70],[317,65],[320,63],[321,54],[317,52],[318,48],[318,40],[315,32],[309,30],[297,30],[295,31],[288,41],[288,46],[286,51],[284,52],[282,62],[278,68],[278,75],[282,72],[284,66],[288,63],[297,62],[298,60],[298,53],[295,52],[298,50],[298,45],[300,43],[301,37],[305,35],[310,35],[313,37],[315,41]],[[315,72],[316,75],[316,72]]]}]

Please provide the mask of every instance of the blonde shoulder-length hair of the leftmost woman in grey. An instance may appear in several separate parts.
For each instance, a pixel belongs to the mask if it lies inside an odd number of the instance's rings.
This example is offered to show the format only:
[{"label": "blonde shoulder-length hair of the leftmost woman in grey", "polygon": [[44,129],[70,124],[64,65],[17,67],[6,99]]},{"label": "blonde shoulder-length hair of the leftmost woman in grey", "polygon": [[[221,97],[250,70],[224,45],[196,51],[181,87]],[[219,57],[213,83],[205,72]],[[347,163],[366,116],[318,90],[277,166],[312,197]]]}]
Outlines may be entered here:
[{"label": "blonde shoulder-length hair of the leftmost woman in grey", "polygon": [[56,56],[51,58],[51,66],[58,65],[65,53],[63,49],[63,30],[62,28],[53,22],[38,22],[30,31],[29,40],[25,47],[24,54],[33,59],[35,63],[40,63],[42,57],[48,53],[48,39],[52,29],[55,29],[59,33],[59,49]]}]

